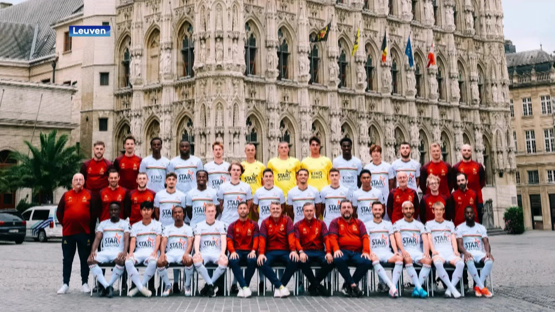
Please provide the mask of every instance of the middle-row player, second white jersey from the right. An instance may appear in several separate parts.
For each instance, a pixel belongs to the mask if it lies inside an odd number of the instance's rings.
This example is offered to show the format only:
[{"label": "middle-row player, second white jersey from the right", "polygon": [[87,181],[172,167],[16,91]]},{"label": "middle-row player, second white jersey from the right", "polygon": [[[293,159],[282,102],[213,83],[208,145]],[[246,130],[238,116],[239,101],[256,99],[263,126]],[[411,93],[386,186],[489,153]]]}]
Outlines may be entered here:
[{"label": "middle-row player, second white jersey from the right", "polygon": [[330,185],[320,190],[320,202],[324,210],[324,223],[330,226],[333,219],[341,217],[341,200],[351,199],[351,192],[340,184],[340,170],[330,169]]}]

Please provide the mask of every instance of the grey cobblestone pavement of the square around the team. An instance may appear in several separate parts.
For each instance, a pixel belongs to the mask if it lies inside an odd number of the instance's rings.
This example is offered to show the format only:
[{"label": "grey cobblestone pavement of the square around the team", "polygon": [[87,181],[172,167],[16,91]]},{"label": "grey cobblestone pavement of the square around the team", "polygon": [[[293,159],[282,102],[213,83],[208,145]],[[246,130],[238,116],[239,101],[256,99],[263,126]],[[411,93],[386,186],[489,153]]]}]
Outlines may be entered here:
[{"label": "grey cobblestone pavement of the square around the team", "polygon": [[[62,283],[60,243],[0,243],[0,310],[2,311],[552,311],[555,312],[555,232],[492,236],[495,296],[467,295],[460,300],[435,298],[360,299],[291,296],[218,298],[97,298],[78,291],[75,255],[70,291],[57,295]],[[169,273],[170,277],[172,273]],[[92,280],[92,278],[91,278]],[[293,283],[290,283],[292,285]],[[251,285],[253,290],[255,285]],[[436,293],[437,294],[437,293]],[[406,294],[408,296],[408,294]]]}]

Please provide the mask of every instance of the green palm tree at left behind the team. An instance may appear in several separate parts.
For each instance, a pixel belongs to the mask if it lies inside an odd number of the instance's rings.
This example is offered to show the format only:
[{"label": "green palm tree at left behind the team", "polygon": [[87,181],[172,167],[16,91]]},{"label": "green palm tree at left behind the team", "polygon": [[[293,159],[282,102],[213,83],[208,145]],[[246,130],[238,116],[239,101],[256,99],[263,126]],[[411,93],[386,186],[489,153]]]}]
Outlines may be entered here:
[{"label": "green palm tree at left behind the team", "polygon": [[56,188],[71,188],[73,175],[79,172],[83,159],[76,146],[65,147],[67,135],[56,139],[56,134],[56,130],[48,135],[41,132],[40,148],[25,141],[31,157],[20,152],[12,154],[18,164],[9,169],[11,180],[17,188],[33,189],[33,195],[41,192],[41,204],[53,203]]}]

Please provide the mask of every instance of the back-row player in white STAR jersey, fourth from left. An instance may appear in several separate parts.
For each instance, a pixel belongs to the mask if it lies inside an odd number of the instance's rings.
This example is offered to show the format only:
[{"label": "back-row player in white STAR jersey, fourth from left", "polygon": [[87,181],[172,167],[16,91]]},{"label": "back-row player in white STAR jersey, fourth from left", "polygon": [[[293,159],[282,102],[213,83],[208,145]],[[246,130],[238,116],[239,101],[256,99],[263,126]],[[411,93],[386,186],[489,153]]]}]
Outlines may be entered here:
[{"label": "back-row player in white STAR jersey, fourth from left", "polygon": [[196,187],[196,171],[202,170],[203,162],[198,157],[191,155],[191,143],[188,140],[179,142],[179,156],[170,160],[168,173],[177,174],[175,188],[187,194]]}]

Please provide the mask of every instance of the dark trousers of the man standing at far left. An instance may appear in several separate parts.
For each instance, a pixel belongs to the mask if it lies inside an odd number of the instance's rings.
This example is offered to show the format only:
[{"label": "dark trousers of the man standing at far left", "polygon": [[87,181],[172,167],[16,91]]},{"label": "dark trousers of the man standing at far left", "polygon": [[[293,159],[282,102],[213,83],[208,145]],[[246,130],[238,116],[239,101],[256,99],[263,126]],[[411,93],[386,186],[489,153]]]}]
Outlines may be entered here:
[{"label": "dark trousers of the man standing at far left", "polygon": [[90,255],[90,235],[84,233],[68,235],[62,238],[62,274],[64,284],[69,285],[73,258],[75,258],[75,249],[77,249],[79,262],[81,263],[81,282],[85,284],[88,283],[89,280],[89,265],[87,264],[87,259]]}]

